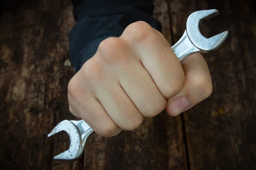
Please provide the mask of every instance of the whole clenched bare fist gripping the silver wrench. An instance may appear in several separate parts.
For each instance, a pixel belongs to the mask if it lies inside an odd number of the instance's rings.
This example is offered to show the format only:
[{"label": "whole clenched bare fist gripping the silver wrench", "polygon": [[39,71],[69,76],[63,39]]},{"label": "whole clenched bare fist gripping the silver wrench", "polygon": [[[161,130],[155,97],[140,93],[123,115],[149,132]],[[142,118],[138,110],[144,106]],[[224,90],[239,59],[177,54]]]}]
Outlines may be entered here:
[{"label": "whole clenched bare fist gripping the silver wrench", "polygon": [[70,112],[105,137],[133,130],[165,108],[177,116],[211,93],[204,57],[180,63],[163,35],[142,21],[102,41],[68,85]]}]

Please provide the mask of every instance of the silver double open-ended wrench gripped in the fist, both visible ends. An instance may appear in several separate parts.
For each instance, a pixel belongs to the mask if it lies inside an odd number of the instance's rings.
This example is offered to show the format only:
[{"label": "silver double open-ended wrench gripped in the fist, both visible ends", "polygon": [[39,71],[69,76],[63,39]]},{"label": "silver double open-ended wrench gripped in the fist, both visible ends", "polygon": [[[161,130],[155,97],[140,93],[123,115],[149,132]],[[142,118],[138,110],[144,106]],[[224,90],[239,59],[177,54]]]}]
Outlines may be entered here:
[{"label": "silver double open-ended wrench gripped in the fist, both visible ends", "polygon": [[[200,30],[200,24],[209,18],[218,15],[218,10],[204,10],[192,13],[186,23],[186,30],[180,40],[172,46],[173,51],[180,61],[195,53],[207,53],[217,49],[228,37],[228,31],[215,35],[211,38],[204,37]],[[84,145],[93,133],[92,128],[83,120],[64,120],[60,122],[48,137],[67,132],[70,136],[70,148],[63,153],[58,154],[53,159],[59,161],[74,161],[79,159],[84,150]]]}]

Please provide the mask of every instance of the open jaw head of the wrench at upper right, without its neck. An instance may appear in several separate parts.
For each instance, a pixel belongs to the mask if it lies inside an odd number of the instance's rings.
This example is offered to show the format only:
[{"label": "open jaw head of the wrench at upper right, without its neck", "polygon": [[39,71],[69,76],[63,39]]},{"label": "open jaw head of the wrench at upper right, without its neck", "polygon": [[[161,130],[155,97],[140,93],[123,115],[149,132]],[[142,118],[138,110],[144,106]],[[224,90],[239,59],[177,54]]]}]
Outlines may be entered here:
[{"label": "open jaw head of the wrench at upper right, without its neck", "polygon": [[224,31],[221,34],[215,35],[211,38],[204,37],[199,29],[201,23],[204,20],[208,20],[217,16],[219,11],[217,9],[196,11],[189,15],[186,23],[186,32],[189,40],[195,47],[201,50],[201,52],[208,52],[217,49],[227,39],[228,31]]}]

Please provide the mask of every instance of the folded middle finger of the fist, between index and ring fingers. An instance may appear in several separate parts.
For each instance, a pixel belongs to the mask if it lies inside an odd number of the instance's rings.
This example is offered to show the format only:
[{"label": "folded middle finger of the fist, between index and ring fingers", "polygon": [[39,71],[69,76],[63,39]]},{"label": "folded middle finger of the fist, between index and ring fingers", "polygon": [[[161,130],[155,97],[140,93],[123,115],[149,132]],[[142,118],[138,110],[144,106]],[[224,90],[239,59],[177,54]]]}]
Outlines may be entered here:
[{"label": "folded middle finger of the fist, between index and ring fingers", "polygon": [[128,63],[118,71],[118,77],[125,93],[143,116],[153,117],[164,110],[166,99],[140,62]]}]

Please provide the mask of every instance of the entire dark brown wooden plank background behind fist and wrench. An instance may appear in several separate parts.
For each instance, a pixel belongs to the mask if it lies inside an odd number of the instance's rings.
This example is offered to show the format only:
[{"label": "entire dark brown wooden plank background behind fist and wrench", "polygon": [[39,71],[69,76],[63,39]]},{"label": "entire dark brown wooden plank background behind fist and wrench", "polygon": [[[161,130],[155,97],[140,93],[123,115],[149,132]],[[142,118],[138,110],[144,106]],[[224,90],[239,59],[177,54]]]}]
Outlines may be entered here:
[{"label": "entire dark brown wooden plank background behind fist and wrench", "polygon": [[[67,34],[75,24],[70,0],[6,0],[0,18],[1,170],[255,170],[256,15],[253,0],[155,0],[163,34],[177,42],[194,11],[216,8],[202,25],[211,37],[228,30],[205,54],[212,95],[175,118],[161,113],[133,131],[89,138],[78,161],[52,157],[69,147],[67,135],[47,139],[68,109],[75,74]],[[2,6],[3,7],[3,6]]]}]

